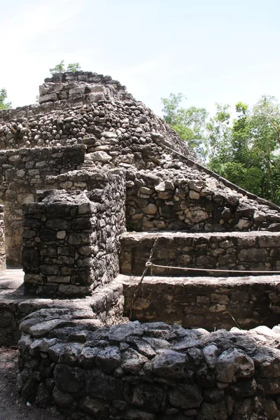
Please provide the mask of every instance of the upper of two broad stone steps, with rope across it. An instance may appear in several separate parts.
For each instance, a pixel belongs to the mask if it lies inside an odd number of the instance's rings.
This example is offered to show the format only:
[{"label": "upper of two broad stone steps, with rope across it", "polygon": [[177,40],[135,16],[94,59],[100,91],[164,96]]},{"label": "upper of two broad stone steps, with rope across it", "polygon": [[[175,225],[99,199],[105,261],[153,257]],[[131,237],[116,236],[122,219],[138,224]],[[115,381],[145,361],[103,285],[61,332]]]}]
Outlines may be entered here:
[{"label": "upper of two broad stone steps, with rope across it", "polygon": [[209,275],[198,269],[230,270],[230,275],[242,275],[233,270],[244,275],[253,270],[279,270],[280,274],[280,232],[265,231],[126,232],[120,236],[120,272],[142,274],[155,241],[155,265],[197,269],[187,274],[178,268],[153,267],[155,275]]}]

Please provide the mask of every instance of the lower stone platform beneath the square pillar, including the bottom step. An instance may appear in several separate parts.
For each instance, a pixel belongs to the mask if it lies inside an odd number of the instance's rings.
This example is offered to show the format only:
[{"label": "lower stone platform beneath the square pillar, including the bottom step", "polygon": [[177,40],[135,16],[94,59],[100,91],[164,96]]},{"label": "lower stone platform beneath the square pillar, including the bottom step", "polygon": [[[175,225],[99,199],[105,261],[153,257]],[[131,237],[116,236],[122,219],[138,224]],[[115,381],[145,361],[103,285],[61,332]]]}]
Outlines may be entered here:
[{"label": "lower stone platform beneath the square pillar, including the bottom step", "polygon": [[[97,325],[112,324],[128,316],[139,276],[120,274],[92,296],[50,299],[26,295],[23,272],[8,269],[0,275],[0,345],[15,345],[18,325],[42,308],[77,311]],[[279,323],[280,276],[163,277],[146,276],[137,294],[132,319],[178,323],[184,328],[230,329],[236,326],[272,327]],[[232,319],[235,318],[235,321]]]}]

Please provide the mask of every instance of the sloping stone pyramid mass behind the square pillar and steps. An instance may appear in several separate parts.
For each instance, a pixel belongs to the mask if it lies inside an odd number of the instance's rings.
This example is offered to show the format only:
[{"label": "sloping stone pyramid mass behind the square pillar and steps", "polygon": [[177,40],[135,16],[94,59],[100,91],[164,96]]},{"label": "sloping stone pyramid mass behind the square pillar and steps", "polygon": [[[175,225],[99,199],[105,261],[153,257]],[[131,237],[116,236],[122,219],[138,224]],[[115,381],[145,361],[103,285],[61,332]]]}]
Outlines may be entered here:
[{"label": "sloping stone pyramid mass behind the square pillar and steps", "polygon": [[[128,230],[280,229],[277,206],[202,167],[165,121],[123,92],[108,76],[64,73],[41,87],[48,102],[0,111],[8,262],[21,263],[22,203],[33,202],[37,189],[53,188],[46,178],[77,169],[126,171]],[[85,102],[92,94],[97,102]]]}]

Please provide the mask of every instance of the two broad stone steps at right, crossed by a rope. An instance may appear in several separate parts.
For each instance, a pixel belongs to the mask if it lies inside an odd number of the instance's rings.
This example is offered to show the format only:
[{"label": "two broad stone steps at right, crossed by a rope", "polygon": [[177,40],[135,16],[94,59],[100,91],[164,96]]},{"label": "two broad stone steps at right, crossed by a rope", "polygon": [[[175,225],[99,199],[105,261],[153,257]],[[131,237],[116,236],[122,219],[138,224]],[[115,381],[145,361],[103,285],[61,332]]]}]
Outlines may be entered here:
[{"label": "two broad stone steps at right, crossed by a rope", "polygon": [[[126,314],[153,244],[156,266],[137,291],[133,319],[208,330],[279,323],[279,232],[126,232],[120,237]],[[219,269],[228,272],[211,271]]]}]

